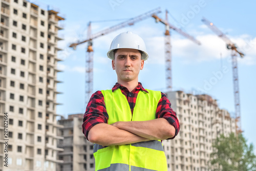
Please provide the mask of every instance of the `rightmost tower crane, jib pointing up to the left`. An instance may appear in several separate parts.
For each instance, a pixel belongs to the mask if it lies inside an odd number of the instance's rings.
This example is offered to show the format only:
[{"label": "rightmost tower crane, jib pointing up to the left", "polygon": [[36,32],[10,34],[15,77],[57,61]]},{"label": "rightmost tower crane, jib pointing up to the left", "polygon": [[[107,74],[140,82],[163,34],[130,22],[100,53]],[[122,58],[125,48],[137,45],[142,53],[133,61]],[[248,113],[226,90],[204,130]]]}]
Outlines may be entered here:
[{"label": "rightmost tower crane, jib pointing up to the left", "polygon": [[237,135],[242,133],[241,128],[241,113],[240,113],[240,96],[238,85],[238,63],[237,56],[244,57],[244,54],[240,52],[236,46],[222,31],[220,31],[214,24],[209,22],[206,18],[202,18],[202,22],[206,24],[211,31],[215,32],[220,38],[222,38],[227,46],[227,49],[231,49],[232,57],[232,70],[233,70],[233,91],[234,91],[234,108],[236,110],[236,133]]}]

